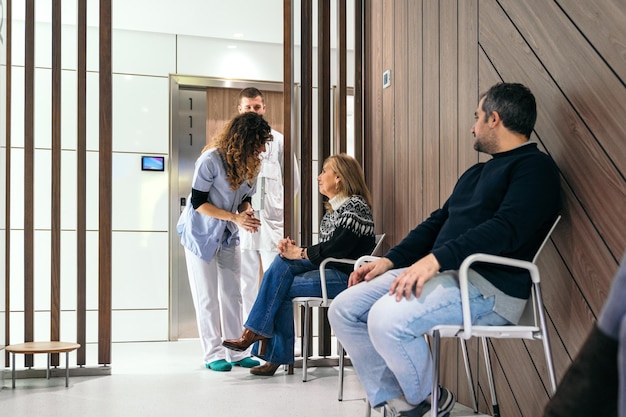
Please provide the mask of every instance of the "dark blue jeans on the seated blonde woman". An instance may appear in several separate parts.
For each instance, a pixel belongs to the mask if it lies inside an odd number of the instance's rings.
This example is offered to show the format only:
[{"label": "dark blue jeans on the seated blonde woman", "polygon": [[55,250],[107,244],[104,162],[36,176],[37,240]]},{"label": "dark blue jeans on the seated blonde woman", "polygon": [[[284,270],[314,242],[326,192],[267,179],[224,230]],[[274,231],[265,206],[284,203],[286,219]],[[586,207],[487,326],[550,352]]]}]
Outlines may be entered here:
[{"label": "dark blue jeans on the seated blonde woman", "polygon": [[[293,328],[294,297],[321,297],[319,267],[308,259],[289,260],[276,256],[263,274],[259,294],[244,327],[270,338],[264,355],[258,343],[252,354],[275,364],[293,364],[295,342]],[[326,269],[328,297],[334,298],[348,287],[348,275]]]}]

